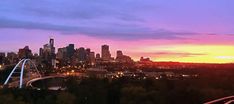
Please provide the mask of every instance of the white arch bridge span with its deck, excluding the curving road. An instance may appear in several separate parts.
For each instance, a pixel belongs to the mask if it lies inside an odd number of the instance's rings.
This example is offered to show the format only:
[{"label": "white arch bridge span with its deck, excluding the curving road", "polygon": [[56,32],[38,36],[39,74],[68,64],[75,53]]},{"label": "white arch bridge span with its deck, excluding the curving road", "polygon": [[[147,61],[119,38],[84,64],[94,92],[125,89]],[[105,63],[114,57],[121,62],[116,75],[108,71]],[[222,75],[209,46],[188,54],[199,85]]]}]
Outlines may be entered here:
[{"label": "white arch bridge span with its deck, excluding the curving road", "polygon": [[18,88],[22,88],[23,85],[26,85],[28,81],[34,78],[41,78],[41,74],[36,65],[30,59],[22,59],[15,65],[9,74],[4,82],[4,86],[15,88],[18,86]]}]

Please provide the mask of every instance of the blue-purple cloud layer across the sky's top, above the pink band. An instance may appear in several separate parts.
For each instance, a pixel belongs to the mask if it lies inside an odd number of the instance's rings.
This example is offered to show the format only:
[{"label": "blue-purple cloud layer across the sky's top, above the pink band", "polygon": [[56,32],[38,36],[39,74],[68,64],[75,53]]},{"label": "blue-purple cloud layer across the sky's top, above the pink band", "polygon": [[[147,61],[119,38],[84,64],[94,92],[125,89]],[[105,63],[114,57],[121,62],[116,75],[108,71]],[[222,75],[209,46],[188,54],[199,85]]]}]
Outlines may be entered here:
[{"label": "blue-purple cloud layer across the sky's top, above the pink band", "polygon": [[125,40],[183,39],[200,32],[233,34],[232,4],[220,0],[2,1],[0,28]]}]

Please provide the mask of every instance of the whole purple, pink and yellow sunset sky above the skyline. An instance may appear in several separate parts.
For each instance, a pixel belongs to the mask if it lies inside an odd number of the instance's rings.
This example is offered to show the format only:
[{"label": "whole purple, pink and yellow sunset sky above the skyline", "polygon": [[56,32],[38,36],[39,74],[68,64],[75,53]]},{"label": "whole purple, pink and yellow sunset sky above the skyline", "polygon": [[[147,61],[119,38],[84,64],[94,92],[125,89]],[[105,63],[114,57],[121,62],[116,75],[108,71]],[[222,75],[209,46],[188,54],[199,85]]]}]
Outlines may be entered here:
[{"label": "whole purple, pink and yellow sunset sky above the skyline", "polygon": [[234,0],[3,0],[0,51],[49,37],[100,53],[110,45],[134,60],[234,62]]}]

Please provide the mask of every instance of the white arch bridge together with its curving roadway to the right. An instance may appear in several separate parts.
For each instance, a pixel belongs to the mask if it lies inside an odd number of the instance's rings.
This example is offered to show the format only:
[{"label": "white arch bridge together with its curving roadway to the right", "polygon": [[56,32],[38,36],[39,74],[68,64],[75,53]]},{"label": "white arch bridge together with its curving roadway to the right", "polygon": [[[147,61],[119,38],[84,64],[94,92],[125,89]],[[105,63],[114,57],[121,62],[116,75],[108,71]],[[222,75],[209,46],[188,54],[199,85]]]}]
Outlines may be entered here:
[{"label": "white arch bridge together with its curving roadway to the right", "polygon": [[65,90],[64,81],[65,76],[63,75],[42,77],[36,65],[30,59],[22,59],[9,74],[4,86],[8,88],[23,88],[26,86],[37,90]]}]

